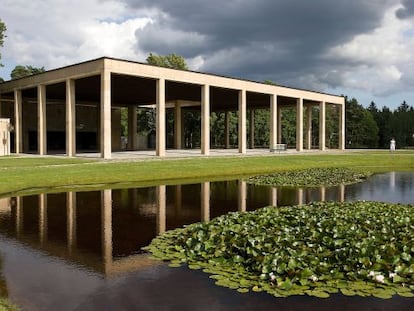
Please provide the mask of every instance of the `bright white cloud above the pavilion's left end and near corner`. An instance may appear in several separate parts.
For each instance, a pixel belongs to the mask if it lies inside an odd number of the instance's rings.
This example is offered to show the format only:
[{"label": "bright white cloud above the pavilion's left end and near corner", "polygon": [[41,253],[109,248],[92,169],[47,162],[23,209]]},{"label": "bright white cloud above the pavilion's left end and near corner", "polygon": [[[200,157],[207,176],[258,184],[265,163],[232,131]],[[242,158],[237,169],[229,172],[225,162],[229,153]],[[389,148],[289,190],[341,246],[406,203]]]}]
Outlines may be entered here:
[{"label": "bright white cloud above the pavilion's left end and near corner", "polygon": [[[144,60],[135,31],[150,20],[116,0],[2,0],[2,62],[47,69],[100,56]],[[135,14],[135,15],[133,15]]]}]

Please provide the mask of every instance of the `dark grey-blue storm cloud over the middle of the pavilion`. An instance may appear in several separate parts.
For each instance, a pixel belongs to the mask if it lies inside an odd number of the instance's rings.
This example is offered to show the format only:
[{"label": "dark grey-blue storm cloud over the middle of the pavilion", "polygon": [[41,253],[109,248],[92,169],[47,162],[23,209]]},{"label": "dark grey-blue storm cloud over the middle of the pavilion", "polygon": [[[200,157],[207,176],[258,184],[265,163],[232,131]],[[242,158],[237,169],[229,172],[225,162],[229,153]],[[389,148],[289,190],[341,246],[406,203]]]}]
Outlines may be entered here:
[{"label": "dark grey-blue storm cloud over the middle of the pavilion", "polygon": [[322,57],[327,49],[372,31],[385,9],[395,4],[391,0],[125,1],[132,8],[158,12],[152,24],[136,32],[144,52],[202,55],[203,71],[282,84],[290,80],[294,84],[294,77],[305,72],[327,75],[334,65]]}]

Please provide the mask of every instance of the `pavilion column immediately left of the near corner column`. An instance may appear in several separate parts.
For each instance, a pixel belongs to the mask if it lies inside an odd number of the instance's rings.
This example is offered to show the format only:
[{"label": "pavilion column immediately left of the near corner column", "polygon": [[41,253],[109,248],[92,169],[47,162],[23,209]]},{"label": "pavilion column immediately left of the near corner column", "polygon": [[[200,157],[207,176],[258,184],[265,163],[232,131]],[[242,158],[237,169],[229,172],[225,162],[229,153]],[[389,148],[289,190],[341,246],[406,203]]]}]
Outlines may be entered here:
[{"label": "pavilion column immediately left of the near corner column", "polygon": [[76,156],[75,80],[66,80],[66,154]]}]

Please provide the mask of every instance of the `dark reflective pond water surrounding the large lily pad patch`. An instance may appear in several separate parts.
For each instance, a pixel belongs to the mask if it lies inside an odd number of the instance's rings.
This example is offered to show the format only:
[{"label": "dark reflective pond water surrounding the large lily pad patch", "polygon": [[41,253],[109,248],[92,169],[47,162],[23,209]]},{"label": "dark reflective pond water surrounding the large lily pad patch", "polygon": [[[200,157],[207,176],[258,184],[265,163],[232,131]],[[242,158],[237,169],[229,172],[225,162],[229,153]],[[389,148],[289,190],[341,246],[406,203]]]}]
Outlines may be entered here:
[{"label": "dark reflective pond water surrounding the large lily pad patch", "polygon": [[3,198],[0,295],[23,310],[411,310],[401,297],[241,294],[141,251],[165,230],[229,211],[325,200],[414,204],[414,173],[313,189],[224,181]]}]

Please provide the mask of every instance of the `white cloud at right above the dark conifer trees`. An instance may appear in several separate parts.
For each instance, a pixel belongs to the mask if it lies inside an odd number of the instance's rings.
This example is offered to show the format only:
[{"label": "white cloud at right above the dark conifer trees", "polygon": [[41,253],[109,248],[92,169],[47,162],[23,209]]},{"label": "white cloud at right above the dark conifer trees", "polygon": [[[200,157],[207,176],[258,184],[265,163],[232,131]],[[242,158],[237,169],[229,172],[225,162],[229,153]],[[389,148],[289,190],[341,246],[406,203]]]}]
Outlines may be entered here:
[{"label": "white cloud at right above the dark conifer trees", "polygon": [[[371,33],[355,36],[351,41],[333,47],[326,59],[342,60],[343,86],[370,92],[377,96],[390,95],[406,88],[403,77],[414,64],[414,30],[412,21],[398,19],[390,8],[380,27]],[[409,79],[406,79],[409,81]]]}]

